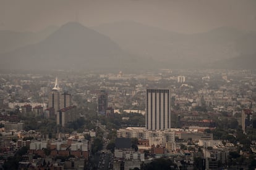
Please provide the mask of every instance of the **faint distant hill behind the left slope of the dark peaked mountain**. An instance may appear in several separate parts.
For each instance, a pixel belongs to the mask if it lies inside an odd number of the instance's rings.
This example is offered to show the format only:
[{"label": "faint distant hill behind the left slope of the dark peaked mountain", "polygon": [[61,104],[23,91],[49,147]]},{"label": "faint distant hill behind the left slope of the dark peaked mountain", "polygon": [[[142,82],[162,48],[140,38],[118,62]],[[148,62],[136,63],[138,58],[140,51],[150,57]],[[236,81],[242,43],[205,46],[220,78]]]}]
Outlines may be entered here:
[{"label": "faint distant hill behind the left slope of the dark peaked mountain", "polygon": [[40,42],[56,30],[58,30],[58,26],[49,26],[37,33],[0,30],[0,53]]}]

